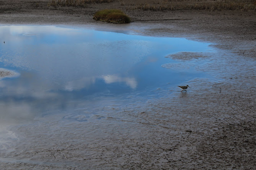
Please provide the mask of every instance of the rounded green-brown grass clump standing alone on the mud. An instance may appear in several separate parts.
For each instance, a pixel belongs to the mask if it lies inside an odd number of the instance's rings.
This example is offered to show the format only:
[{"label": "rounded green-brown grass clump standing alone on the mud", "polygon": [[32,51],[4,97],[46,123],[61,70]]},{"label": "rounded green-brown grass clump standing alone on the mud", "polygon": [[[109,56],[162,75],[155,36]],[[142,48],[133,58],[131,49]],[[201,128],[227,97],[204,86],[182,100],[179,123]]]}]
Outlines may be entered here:
[{"label": "rounded green-brown grass clump standing alone on the mud", "polygon": [[93,19],[97,21],[103,21],[108,23],[130,23],[131,19],[129,16],[125,15],[121,10],[115,9],[105,9],[98,11],[94,14]]}]

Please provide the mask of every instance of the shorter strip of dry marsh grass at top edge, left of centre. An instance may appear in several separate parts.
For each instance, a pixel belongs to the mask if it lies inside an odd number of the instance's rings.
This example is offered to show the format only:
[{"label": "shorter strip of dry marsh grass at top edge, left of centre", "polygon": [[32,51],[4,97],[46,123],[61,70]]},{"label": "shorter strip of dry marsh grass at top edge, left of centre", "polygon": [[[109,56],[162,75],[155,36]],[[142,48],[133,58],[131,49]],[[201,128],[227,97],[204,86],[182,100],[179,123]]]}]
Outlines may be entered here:
[{"label": "shorter strip of dry marsh grass at top edge, left of centre", "polygon": [[90,3],[110,3],[114,0],[49,0],[48,6],[80,6],[86,7]]}]

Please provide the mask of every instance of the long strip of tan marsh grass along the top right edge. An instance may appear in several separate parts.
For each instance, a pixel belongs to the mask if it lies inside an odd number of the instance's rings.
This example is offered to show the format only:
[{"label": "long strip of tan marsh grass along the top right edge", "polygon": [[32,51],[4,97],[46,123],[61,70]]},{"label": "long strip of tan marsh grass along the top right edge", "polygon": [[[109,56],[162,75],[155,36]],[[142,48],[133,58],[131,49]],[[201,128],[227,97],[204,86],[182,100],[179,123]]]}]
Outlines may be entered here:
[{"label": "long strip of tan marsh grass along the top right edge", "polygon": [[[132,8],[130,8],[132,9]],[[255,0],[159,0],[154,4],[138,3],[133,9],[164,10],[208,10],[208,11],[256,11]]]}]

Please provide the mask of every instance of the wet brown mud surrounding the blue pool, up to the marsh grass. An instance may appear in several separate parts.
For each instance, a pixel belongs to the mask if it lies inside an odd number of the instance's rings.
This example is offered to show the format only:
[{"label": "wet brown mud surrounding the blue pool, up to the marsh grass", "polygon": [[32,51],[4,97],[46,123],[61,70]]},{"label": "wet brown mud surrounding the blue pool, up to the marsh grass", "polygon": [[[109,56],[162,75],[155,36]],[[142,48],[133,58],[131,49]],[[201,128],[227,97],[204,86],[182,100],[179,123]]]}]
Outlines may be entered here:
[{"label": "wet brown mud surrounding the blue pool, up to the marsh grass", "polygon": [[[215,79],[195,78],[186,82],[191,87],[187,92],[181,92],[178,87],[169,87],[159,89],[161,98],[136,100],[127,106],[109,104],[108,107],[99,108],[102,115],[95,115],[95,121],[87,123],[53,118],[47,123],[11,126],[8,130],[15,133],[16,137],[13,137],[14,142],[0,148],[0,167],[254,169],[255,13],[133,10],[127,13],[134,20],[192,19],[135,21],[128,28],[96,23],[91,19],[96,9],[110,7],[107,6],[110,4],[101,7],[96,4],[86,10],[22,6],[7,10],[8,6],[1,6],[0,23],[90,24],[102,30],[129,29],[140,35],[186,37],[210,42],[218,49],[217,55],[177,53],[168,57],[177,60],[183,68],[190,67],[187,62],[192,61],[195,69],[208,72]],[[201,60],[207,60],[208,63],[197,65]],[[76,130],[71,131],[74,128]]]}]

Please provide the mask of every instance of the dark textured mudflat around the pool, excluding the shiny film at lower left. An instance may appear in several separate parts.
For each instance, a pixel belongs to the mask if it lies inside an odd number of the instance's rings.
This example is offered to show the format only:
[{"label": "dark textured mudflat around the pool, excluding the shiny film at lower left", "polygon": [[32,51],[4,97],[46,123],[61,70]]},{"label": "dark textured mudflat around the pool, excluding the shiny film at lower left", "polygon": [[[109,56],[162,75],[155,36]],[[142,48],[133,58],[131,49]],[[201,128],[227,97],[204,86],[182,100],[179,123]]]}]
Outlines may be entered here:
[{"label": "dark textured mudflat around the pool, excluding the shiny film at lower left", "polygon": [[[74,7],[49,6],[48,0],[0,0],[2,25],[88,26],[106,31],[129,29],[146,36],[184,37],[210,42],[218,50],[217,56],[200,53],[167,56],[181,63],[192,58],[209,58],[211,63],[198,69],[210,72],[219,80],[195,78],[188,82],[192,87],[188,92],[176,92],[175,97],[149,101],[147,109],[139,112],[130,106],[125,113],[134,116],[137,123],[141,122],[141,126],[147,129],[141,136],[128,138],[129,135],[116,136],[113,133],[109,139],[98,139],[98,150],[82,154],[80,159],[83,160],[79,165],[69,163],[65,168],[255,169],[255,10],[153,11],[136,7],[145,2],[156,4],[154,1],[117,0]],[[121,9],[133,22],[127,28],[94,21],[94,13],[105,8]],[[54,154],[47,151],[37,158],[40,160],[48,156],[57,159],[56,155],[66,153],[69,157],[64,160],[69,162],[77,147],[81,151],[88,149],[83,142],[71,148],[58,147],[61,145],[59,142],[53,146]],[[7,156],[2,153],[2,157]],[[60,168],[55,163],[8,162],[2,159],[0,162],[4,169]]]}]

